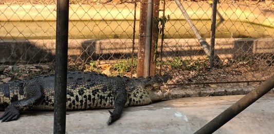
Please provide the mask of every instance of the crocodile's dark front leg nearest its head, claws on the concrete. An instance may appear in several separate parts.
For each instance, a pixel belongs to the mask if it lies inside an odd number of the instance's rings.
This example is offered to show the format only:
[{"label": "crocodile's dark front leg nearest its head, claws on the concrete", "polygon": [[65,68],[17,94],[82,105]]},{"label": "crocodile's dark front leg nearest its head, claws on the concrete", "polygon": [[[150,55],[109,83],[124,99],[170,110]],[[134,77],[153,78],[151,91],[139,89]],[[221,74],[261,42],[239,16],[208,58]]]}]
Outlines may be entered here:
[{"label": "crocodile's dark front leg nearest its head, claws on the concrete", "polygon": [[116,91],[116,97],[114,102],[114,110],[113,112],[109,111],[111,116],[109,117],[107,124],[110,125],[111,123],[115,122],[121,117],[124,105],[127,100],[127,94],[125,89],[118,89]]}]

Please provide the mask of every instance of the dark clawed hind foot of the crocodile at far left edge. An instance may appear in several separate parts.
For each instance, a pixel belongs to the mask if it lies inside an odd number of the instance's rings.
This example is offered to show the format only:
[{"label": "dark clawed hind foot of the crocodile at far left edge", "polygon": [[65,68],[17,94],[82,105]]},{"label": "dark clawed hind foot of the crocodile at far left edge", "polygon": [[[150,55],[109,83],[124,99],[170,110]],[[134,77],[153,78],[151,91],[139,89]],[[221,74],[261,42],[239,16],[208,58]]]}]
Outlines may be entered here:
[{"label": "dark clawed hind foot of the crocodile at far left edge", "polygon": [[14,105],[9,105],[5,109],[5,113],[3,114],[2,117],[0,117],[1,122],[9,122],[13,120],[17,120],[20,117],[20,112],[19,110],[16,109]]}]

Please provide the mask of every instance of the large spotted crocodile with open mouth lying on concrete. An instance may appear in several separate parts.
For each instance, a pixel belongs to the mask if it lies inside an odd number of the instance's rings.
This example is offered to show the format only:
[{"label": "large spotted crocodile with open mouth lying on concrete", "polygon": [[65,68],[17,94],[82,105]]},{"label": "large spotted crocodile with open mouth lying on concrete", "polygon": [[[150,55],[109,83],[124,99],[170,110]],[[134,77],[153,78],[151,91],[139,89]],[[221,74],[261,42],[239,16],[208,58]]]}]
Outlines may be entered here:
[{"label": "large spotted crocodile with open mouth lying on concrete", "polygon": [[[2,122],[20,118],[23,110],[54,109],[54,74],[0,84]],[[67,110],[113,108],[107,124],[118,120],[124,107],[147,105],[165,99],[168,91],[156,91],[172,79],[166,74],[148,78],[107,76],[96,72],[67,73]]]}]

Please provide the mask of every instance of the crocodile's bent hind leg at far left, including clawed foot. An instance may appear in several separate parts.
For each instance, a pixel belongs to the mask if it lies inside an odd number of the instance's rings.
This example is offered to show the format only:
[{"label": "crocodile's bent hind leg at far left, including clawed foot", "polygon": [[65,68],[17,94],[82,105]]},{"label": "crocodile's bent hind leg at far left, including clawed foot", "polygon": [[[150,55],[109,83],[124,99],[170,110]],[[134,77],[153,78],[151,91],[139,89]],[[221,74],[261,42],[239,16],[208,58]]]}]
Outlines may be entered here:
[{"label": "crocodile's bent hind leg at far left, including clawed foot", "polygon": [[6,109],[1,122],[17,120],[20,117],[21,110],[27,110],[40,102],[43,96],[43,87],[40,84],[33,83],[24,87],[24,99],[11,103]]}]

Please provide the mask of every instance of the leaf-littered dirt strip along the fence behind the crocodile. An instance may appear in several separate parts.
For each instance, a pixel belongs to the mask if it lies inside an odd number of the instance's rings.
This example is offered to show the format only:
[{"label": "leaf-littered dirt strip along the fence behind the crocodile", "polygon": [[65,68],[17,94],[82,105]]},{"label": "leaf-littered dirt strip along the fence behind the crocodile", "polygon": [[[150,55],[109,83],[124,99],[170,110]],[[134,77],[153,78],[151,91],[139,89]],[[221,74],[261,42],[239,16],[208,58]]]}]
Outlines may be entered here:
[{"label": "leaf-littered dirt strip along the fence behind the crocodile", "polygon": [[[112,69],[113,64],[99,64],[90,68],[90,65],[69,61],[69,71],[96,71],[107,75],[131,76],[130,71],[119,72]],[[198,68],[199,67],[199,68]],[[173,80],[168,83],[173,86],[208,83],[233,83],[253,81],[259,84],[274,74],[274,64],[270,66],[262,61],[248,62],[227,62],[222,67],[210,69],[207,66],[193,66],[186,69],[185,66],[172,68],[171,65],[163,66],[162,73],[170,74]],[[158,70],[159,72],[159,70]],[[0,67],[0,83],[11,80],[24,80],[32,76],[54,73],[54,63],[49,64],[28,64],[28,65],[3,65]],[[136,72],[133,72],[136,76]],[[204,83],[204,84],[203,84]],[[205,84],[206,83],[206,84]],[[246,84],[246,83],[244,83]]]}]

